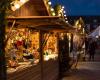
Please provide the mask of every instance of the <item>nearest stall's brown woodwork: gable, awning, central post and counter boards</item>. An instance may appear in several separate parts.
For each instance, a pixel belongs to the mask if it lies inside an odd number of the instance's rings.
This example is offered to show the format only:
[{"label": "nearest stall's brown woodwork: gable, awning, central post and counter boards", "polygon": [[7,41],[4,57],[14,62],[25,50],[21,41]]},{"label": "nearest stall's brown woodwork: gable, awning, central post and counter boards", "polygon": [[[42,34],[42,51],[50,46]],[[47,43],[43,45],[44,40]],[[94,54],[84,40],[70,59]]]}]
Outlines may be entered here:
[{"label": "nearest stall's brown woodwork: gable, awning, central post and counter boards", "polygon": [[[22,5],[16,11],[12,11],[12,14],[7,18],[8,20],[8,31],[11,29],[12,32],[23,31],[21,29],[30,29],[32,34],[23,32],[23,35],[26,34],[28,38],[34,37],[34,31],[38,32],[38,47],[39,47],[39,62],[31,65],[23,65],[19,66],[15,69],[8,70],[8,80],[57,80],[59,77],[59,62],[58,57],[54,57],[54,59],[44,60],[44,49],[43,49],[43,41],[47,37],[48,40],[49,33],[61,33],[61,32],[71,32],[74,29],[68,23],[65,23],[58,16],[50,16],[46,4],[43,0],[29,0],[27,3]],[[18,29],[18,31],[16,31]],[[12,33],[11,32],[11,33]],[[46,32],[46,33],[45,33]],[[13,33],[12,33],[13,34]],[[15,33],[14,35],[16,35]],[[22,33],[18,33],[22,34]],[[29,35],[28,35],[29,34]],[[45,37],[44,35],[47,34]],[[26,36],[26,37],[27,37]],[[52,35],[53,36],[53,35]],[[52,38],[52,36],[50,38]],[[12,39],[21,38],[20,36],[14,36]],[[58,37],[53,36],[56,40],[56,48],[58,50]],[[25,37],[23,37],[25,38]],[[34,39],[36,39],[35,37]],[[8,39],[12,41],[12,39]],[[22,38],[21,38],[22,39]],[[45,40],[45,41],[46,41]],[[8,42],[10,42],[8,41]],[[34,40],[33,40],[34,41]],[[37,41],[37,40],[36,40]],[[14,40],[12,41],[14,42]],[[32,42],[32,41],[31,41]],[[34,42],[35,43],[35,42]],[[10,44],[9,44],[10,45]],[[49,45],[49,42],[48,42]],[[18,47],[19,49],[19,47]],[[51,47],[49,48],[51,49]],[[20,48],[21,51],[21,48]],[[53,50],[55,51],[55,50]],[[22,52],[21,52],[22,53]],[[59,52],[57,51],[57,54]],[[49,54],[46,54],[49,56]],[[27,61],[26,61],[27,62]],[[25,63],[25,62],[24,62]]]}]

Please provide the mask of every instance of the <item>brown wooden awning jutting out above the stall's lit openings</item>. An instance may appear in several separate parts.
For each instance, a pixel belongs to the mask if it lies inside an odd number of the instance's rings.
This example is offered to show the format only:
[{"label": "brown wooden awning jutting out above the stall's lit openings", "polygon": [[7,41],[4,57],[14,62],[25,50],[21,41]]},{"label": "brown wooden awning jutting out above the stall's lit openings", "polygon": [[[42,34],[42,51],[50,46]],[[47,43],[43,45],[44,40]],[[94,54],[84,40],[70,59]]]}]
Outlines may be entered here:
[{"label": "brown wooden awning jutting out above the stall's lit openings", "polygon": [[16,24],[35,28],[39,30],[49,31],[71,31],[74,28],[63,21],[58,16],[21,16],[21,17],[8,17],[9,23],[16,21]]}]

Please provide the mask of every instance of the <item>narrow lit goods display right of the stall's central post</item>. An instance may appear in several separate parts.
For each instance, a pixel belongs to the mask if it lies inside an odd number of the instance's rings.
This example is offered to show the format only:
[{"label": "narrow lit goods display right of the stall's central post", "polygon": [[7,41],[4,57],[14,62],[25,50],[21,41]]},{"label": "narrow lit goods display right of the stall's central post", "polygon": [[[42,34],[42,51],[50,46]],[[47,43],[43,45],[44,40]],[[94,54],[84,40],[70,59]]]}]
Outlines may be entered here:
[{"label": "narrow lit goods display right of the stall's central post", "polygon": [[56,34],[46,33],[44,37],[44,60],[56,59],[58,57]]}]

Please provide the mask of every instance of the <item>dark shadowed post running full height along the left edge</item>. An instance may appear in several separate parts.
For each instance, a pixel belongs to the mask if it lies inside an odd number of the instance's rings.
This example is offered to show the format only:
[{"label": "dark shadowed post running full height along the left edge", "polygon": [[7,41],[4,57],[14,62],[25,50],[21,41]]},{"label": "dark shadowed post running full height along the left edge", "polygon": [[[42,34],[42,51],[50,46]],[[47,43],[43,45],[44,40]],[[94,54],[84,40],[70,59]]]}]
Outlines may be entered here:
[{"label": "dark shadowed post running full height along the left edge", "polygon": [[[10,1],[9,1],[10,2]],[[5,26],[6,10],[9,5],[8,0],[0,1],[0,80],[6,80],[6,59],[5,59]]]}]

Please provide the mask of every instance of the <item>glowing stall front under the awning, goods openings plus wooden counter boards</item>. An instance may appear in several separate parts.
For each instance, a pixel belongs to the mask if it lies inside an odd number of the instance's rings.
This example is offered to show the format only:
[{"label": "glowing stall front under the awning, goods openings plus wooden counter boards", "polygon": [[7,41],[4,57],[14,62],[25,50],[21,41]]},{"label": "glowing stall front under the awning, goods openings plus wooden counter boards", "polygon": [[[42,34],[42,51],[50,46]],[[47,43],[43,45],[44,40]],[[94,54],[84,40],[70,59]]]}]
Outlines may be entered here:
[{"label": "glowing stall front under the awning, goods openings plus wooden counter boards", "polygon": [[8,80],[47,80],[52,74],[55,74],[52,79],[57,78],[57,37],[54,33],[44,33],[42,42],[40,32],[30,28],[13,28],[11,34],[6,46]]}]

